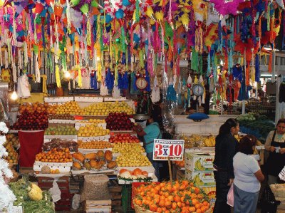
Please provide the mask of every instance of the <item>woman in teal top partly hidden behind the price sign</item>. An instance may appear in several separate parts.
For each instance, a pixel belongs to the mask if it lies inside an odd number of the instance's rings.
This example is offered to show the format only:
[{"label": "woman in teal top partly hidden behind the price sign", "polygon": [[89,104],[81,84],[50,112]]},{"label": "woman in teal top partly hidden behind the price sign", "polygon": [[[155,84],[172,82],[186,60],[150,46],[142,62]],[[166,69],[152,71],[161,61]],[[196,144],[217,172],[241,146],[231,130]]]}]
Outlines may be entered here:
[{"label": "woman in teal top partly hidden behind the price sign", "polygon": [[157,160],[152,160],[153,155],[153,142],[155,139],[161,139],[162,133],[160,131],[160,125],[157,122],[154,122],[152,116],[147,120],[147,127],[142,129],[140,125],[135,125],[135,132],[139,136],[144,138],[145,151],[147,152],[147,158],[155,167],[155,176],[157,180],[160,181],[160,162]]}]

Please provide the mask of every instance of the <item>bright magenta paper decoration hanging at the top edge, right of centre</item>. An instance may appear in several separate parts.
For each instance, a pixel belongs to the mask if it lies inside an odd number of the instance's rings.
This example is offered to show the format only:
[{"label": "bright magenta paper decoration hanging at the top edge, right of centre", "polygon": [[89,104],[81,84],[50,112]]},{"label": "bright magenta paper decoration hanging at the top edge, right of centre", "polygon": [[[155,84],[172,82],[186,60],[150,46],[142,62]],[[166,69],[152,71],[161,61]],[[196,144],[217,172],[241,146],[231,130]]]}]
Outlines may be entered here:
[{"label": "bright magenta paper decoration hanging at the top edge, right of centre", "polygon": [[244,2],[244,0],[209,0],[214,3],[214,8],[219,12],[219,14],[225,16],[227,14],[237,15],[237,7],[239,3]]}]

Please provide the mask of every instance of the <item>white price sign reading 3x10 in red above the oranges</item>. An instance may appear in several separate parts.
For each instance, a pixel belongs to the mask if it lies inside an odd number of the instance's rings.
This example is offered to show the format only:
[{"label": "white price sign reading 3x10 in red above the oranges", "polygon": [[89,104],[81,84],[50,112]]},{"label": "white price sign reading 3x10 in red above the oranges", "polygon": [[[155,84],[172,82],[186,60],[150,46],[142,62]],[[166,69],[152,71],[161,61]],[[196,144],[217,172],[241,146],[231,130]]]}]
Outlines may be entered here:
[{"label": "white price sign reading 3x10 in red above the oranges", "polygon": [[155,139],[153,160],[183,160],[184,140]]}]

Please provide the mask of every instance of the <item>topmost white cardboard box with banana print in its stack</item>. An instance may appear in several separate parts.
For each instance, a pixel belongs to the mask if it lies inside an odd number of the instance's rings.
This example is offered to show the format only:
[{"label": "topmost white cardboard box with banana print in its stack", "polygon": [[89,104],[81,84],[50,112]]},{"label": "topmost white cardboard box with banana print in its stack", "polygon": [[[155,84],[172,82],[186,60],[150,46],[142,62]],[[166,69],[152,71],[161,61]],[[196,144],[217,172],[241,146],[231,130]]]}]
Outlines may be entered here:
[{"label": "topmost white cardboard box with banana print in its stack", "polygon": [[185,153],[185,169],[190,171],[212,171],[214,153],[199,154]]}]

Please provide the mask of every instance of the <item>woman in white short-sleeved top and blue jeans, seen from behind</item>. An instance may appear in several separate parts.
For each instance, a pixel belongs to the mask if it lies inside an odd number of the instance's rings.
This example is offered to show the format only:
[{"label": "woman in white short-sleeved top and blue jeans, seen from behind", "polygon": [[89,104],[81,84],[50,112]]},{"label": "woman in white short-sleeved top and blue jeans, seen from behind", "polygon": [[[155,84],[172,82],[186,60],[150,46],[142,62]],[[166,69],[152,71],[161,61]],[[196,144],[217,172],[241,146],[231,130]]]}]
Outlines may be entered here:
[{"label": "woman in white short-sleeved top and blue jeans, seen from behind", "polygon": [[251,156],[256,145],[256,137],[244,136],[239,141],[239,152],[234,155],[234,213],[254,213],[257,209],[264,175],[257,160]]}]

